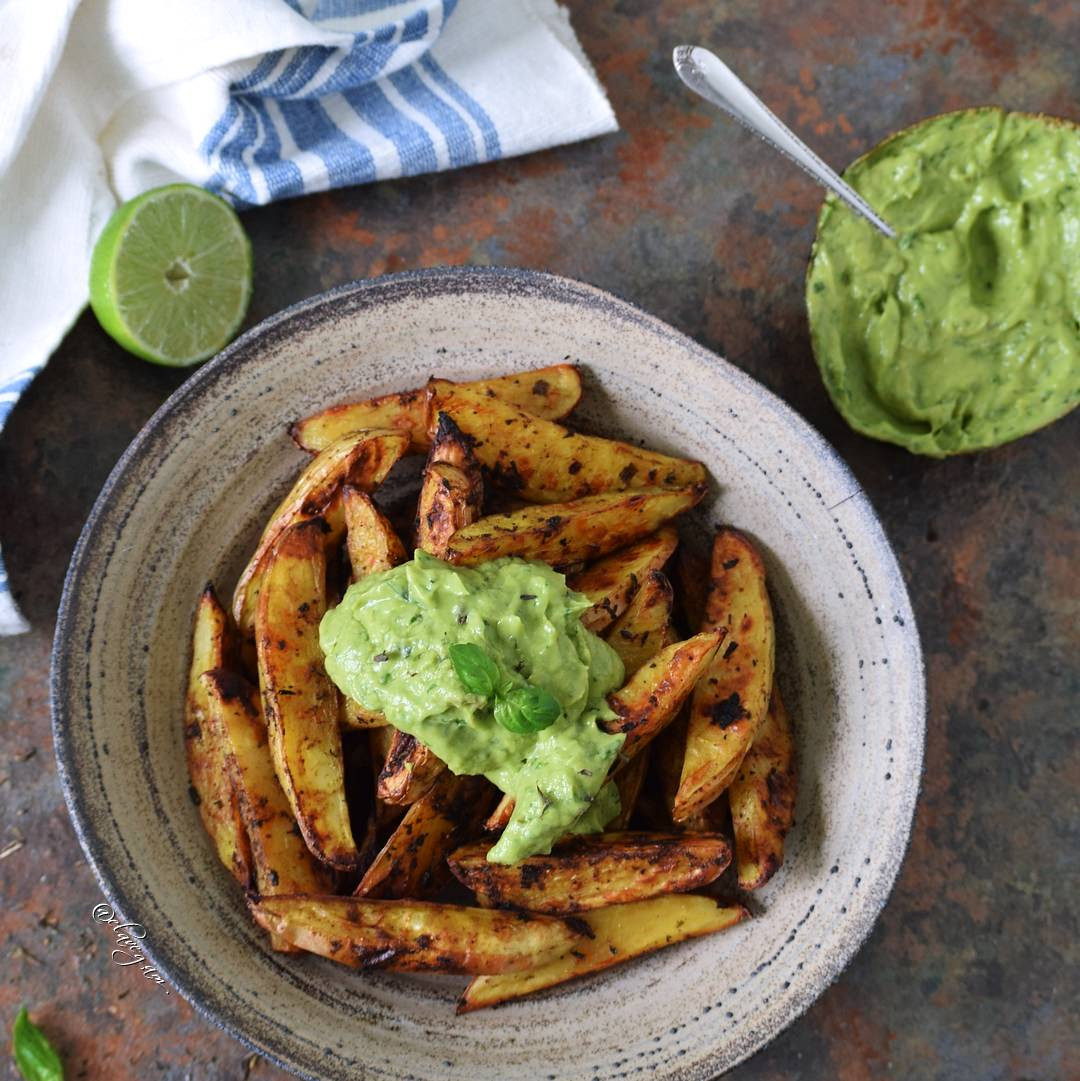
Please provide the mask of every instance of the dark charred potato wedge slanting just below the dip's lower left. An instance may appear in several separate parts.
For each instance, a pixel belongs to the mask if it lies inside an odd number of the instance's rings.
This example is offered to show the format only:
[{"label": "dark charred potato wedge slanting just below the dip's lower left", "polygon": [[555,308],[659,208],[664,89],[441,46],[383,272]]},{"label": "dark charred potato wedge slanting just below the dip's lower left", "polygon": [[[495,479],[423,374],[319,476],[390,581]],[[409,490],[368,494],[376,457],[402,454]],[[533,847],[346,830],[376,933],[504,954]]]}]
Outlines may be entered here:
[{"label": "dark charred potato wedge slanting just below the dip's lower left", "polygon": [[450,881],[446,856],[491,808],[482,777],[449,770],[405,812],[355,891],[358,897],[432,897]]}]

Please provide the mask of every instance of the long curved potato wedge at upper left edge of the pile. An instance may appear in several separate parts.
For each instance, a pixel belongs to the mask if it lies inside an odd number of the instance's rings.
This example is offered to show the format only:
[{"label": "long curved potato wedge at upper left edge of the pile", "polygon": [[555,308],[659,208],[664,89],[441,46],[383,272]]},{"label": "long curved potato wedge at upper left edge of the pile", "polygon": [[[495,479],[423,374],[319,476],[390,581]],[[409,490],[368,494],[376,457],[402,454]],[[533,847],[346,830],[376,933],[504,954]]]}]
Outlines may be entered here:
[{"label": "long curved potato wedge at upper left edge of the pile", "polygon": [[[249,633],[254,624],[263,560],[278,537],[290,525],[320,513],[336,535],[345,528],[342,486],[348,482],[361,491],[373,491],[408,446],[408,437],[400,431],[385,428],[352,431],[308,463],[270,516],[232,593],[232,615],[242,633]],[[326,512],[331,506],[333,511]]]}]

